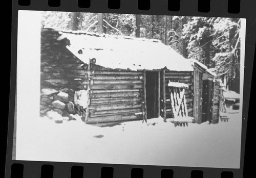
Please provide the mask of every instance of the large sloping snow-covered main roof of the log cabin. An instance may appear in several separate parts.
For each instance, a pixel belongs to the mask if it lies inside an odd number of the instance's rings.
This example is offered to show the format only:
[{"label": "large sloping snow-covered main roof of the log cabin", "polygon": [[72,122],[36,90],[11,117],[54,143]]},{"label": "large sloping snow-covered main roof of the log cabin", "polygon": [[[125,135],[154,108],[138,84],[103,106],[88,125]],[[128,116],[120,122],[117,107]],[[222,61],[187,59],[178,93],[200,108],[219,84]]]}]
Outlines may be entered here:
[{"label": "large sloping snow-covered main roof of the log cabin", "polygon": [[88,62],[88,58],[95,58],[97,65],[113,69],[154,70],[166,67],[171,71],[194,70],[188,59],[156,39],[81,32],[59,33],[62,35],[58,40],[70,40],[67,48],[84,63]]}]

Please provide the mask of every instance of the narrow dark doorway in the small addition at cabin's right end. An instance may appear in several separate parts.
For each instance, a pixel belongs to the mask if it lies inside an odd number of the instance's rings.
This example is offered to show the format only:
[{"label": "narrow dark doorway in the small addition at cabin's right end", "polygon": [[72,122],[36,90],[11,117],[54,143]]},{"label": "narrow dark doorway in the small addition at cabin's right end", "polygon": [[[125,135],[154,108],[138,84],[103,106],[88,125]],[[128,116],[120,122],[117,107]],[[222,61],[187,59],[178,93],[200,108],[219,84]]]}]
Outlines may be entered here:
[{"label": "narrow dark doorway in the small addition at cabin's right end", "polygon": [[212,94],[213,94],[213,82],[210,80],[203,80],[203,90],[202,90],[202,121],[211,122],[212,115]]}]

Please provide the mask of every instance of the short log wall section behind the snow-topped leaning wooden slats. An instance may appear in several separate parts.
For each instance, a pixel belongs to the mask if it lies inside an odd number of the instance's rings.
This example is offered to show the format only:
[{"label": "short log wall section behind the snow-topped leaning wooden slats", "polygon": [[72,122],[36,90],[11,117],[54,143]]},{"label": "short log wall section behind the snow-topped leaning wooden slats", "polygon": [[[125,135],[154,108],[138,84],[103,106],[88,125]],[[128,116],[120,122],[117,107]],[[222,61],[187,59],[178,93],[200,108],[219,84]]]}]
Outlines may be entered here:
[{"label": "short log wall section behind the snow-topped leaning wooden slats", "polygon": [[[164,80],[163,80],[164,76]],[[166,103],[166,118],[172,118],[173,112],[170,104],[170,91],[167,87],[168,82],[180,82],[185,83],[189,86],[188,89],[185,89],[185,97],[186,97],[186,105],[189,116],[193,116],[193,101],[194,101],[194,77],[193,72],[187,71],[167,71],[165,70],[165,74],[161,75],[161,81],[165,81],[165,103]],[[161,84],[163,87],[163,85]],[[162,88],[161,88],[161,91]],[[164,97],[163,92],[161,92],[161,116],[164,118]]]}]

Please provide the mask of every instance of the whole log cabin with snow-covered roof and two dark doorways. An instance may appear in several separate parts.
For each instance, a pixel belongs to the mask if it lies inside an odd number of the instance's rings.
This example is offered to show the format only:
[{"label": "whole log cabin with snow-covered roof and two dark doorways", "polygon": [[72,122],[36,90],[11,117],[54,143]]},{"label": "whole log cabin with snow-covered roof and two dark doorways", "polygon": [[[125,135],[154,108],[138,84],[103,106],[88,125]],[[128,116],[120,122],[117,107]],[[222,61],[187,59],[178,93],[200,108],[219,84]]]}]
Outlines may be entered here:
[{"label": "whole log cabin with snow-covered roof and two dark doorways", "polygon": [[74,109],[88,124],[173,118],[170,92],[181,90],[168,83],[187,86],[183,108],[194,123],[218,123],[216,74],[160,40],[53,29],[42,29],[41,39],[41,63],[62,72],[55,89],[74,91]]}]

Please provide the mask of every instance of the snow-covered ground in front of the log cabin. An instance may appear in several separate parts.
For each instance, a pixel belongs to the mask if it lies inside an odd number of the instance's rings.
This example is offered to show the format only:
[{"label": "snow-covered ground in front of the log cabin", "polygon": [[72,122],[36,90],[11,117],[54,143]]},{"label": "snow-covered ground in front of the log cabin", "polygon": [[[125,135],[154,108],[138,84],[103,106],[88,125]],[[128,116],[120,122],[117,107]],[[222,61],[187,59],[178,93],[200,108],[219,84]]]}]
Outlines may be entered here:
[{"label": "snow-covered ground in front of the log cabin", "polygon": [[[240,167],[241,114],[174,127],[162,118],[100,128],[80,121],[17,118],[17,160]],[[103,136],[103,137],[102,137]]]}]

